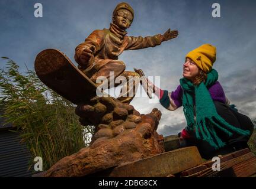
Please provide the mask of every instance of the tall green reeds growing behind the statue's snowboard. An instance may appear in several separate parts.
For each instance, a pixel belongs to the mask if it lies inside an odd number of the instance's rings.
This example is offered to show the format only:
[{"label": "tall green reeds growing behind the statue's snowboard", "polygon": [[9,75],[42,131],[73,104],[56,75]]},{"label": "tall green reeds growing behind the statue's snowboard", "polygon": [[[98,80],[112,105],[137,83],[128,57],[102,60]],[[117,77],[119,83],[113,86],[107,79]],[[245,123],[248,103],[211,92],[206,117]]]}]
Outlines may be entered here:
[{"label": "tall green reeds growing behind the statue's snowboard", "polygon": [[43,170],[59,159],[87,146],[93,128],[84,127],[75,115],[75,106],[48,89],[34,71],[21,74],[14,61],[7,57],[5,69],[0,69],[2,117],[21,133],[34,157],[43,158]]}]

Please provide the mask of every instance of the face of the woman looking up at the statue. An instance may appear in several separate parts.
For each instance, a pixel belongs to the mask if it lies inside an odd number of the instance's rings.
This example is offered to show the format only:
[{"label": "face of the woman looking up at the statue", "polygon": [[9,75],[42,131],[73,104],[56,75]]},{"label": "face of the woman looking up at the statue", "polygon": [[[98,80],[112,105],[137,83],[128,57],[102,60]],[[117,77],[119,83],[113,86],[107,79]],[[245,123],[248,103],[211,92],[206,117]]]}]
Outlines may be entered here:
[{"label": "face of the woman looking up at the statue", "polygon": [[199,73],[199,67],[197,67],[197,65],[190,58],[186,58],[185,63],[183,64],[183,77],[193,82]]}]

